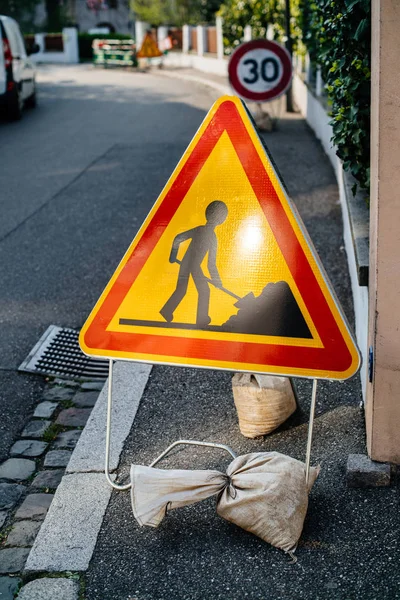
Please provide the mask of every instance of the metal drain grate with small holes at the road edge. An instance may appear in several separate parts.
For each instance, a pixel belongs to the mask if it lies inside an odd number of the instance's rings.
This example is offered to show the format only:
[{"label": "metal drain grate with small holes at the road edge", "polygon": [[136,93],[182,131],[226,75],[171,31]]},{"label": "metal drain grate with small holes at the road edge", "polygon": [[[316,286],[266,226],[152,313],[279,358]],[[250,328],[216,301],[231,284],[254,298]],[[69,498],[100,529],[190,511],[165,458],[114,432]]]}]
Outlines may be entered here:
[{"label": "metal drain grate with small holes at the road edge", "polygon": [[106,379],[108,360],[82,352],[75,329],[50,325],[18,371],[57,375],[66,379]]}]

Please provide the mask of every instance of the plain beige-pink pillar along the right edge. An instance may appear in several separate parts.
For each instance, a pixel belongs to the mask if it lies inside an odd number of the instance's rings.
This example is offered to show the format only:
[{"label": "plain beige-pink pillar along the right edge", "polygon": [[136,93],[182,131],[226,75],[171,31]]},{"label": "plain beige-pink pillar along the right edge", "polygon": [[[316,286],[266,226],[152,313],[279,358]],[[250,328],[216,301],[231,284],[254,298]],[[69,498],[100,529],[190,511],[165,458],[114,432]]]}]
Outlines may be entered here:
[{"label": "plain beige-pink pillar along the right edge", "polygon": [[400,463],[400,3],[372,6],[368,452]]}]

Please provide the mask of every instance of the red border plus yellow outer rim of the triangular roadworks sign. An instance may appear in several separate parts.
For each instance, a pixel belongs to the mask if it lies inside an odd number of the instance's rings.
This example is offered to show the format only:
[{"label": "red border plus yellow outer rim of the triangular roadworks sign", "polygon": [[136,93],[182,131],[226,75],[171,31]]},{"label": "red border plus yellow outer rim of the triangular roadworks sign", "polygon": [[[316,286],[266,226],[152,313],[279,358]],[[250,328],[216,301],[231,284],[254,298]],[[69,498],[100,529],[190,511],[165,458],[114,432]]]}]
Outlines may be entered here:
[{"label": "red border plus yellow outer rim of the triangular roadworks sign", "polygon": [[[215,146],[218,136],[225,132],[231,142],[233,140],[239,159],[246,163],[246,176],[254,187],[279,248],[285,248],[282,250],[284,259],[310,319],[315,322],[320,346],[285,343],[290,338],[281,342],[279,337],[265,343],[261,338],[257,340],[259,336],[248,336],[251,339],[243,342],[236,341],[230,334],[229,340],[224,341],[214,334],[200,336],[198,331],[187,332],[182,337],[171,330],[168,337],[161,337],[157,328],[149,335],[132,334],[133,329],[121,333],[108,327],[162,237],[171,215],[180,206],[210,155],[210,145]],[[303,273],[306,273],[306,279]],[[339,380],[357,372],[360,353],[346,318],[273,160],[238,98],[222,97],[210,110],[85,323],[80,343],[89,355],[153,364]]]}]

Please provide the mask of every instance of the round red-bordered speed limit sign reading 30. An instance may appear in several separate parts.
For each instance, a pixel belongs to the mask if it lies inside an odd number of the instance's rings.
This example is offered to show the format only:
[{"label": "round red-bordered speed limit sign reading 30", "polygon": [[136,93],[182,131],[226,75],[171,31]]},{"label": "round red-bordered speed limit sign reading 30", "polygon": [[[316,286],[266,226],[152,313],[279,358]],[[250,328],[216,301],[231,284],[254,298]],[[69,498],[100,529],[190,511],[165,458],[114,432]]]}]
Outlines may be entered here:
[{"label": "round red-bordered speed limit sign reading 30", "polygon": [[238,96],[253,102],[277,98],[289,87],[292,61],[289,52],[270,40],[253,40],[233,52],[229,82]]}]

